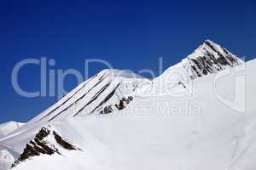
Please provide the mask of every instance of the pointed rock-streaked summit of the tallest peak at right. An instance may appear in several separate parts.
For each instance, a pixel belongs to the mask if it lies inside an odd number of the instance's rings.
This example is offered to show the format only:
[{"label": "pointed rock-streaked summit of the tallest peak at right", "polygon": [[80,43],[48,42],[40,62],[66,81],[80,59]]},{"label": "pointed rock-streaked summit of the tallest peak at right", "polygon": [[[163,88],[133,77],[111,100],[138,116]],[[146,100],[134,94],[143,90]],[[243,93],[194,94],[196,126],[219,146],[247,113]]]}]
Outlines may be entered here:
[{"label": "pointed rock-streaked summit of the tallest peak at right", "polygon": [[223,71],[227,67],[241,65],[243,61],[226,48],[206,40],[195,52],[183,59],[183,68],[195,79],[207,74]]}]

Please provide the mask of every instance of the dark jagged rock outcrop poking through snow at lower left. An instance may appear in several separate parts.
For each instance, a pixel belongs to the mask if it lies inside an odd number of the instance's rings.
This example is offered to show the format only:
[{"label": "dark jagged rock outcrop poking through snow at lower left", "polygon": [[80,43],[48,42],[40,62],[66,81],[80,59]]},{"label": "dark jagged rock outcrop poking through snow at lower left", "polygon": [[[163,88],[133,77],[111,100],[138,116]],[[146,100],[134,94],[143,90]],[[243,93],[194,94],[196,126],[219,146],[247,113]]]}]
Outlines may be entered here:
[{"label": "dark jagged rock outcrop poking through snow at lower left", "polygon": [[[53,138],[54,140],[50,138]],[[55,142],[49,142],[49,140]],[[29,144],[26,144],[26,148],[12,167],[15,167],[20,162],[26,161],[33,156],[40,156],[41,154],[51,156],[56,153],[61,155],[60,147],[61,149],[66,150],[80,150],[78,147],[75,147],[73,144],[69,144],[66,140],[62,139],[54,130],[49,129],[48,127],[43,127],[36,137],[32,139]]]}]

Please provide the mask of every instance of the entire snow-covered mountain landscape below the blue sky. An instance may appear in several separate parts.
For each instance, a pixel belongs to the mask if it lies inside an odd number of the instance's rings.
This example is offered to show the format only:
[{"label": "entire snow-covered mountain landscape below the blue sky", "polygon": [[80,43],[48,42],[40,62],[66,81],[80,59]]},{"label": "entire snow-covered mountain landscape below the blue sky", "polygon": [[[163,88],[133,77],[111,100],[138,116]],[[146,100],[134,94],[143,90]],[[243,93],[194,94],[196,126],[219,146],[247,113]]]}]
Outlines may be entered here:
[{"label": "entire snow-covered mountain landscape below the blue sky", "polygon": [[153,80],[101,71],[3,135],[0,170],[255,170],[255,72],[210,40]]}]

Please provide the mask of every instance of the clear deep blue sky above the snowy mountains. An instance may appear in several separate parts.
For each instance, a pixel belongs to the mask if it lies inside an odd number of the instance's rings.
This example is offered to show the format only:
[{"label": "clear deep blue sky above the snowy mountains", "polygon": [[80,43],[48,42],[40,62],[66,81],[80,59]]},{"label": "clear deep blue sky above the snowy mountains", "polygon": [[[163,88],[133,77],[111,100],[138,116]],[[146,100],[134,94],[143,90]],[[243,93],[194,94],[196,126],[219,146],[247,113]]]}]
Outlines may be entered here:
[{"label": "clear deep blue sky above the snowy mountains", "polygon": [[[56,97],[24,98],[11,86],[21,59],[55,59],[55,69],[84,71],[84,59],[102,58],[137,72],[164,68],[211,39],[234,54],[256,54],[256,3],[251,1],[2,1],[0,5],[0,123],[26,122]],[[20,72],[27,90],[39,88],[37,66]],[[95,65],[90,75],[102,69]],[[76,86],[68,77],[65,86]]]}]

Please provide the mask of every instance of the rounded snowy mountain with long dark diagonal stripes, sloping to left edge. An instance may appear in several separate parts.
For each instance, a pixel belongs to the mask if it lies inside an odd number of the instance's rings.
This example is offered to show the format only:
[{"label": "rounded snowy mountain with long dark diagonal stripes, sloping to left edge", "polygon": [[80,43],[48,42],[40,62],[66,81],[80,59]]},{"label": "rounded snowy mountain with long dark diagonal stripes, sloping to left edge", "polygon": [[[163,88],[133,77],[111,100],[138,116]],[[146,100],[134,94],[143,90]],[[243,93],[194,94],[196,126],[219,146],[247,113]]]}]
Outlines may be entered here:
[{"label": "rounded snowy mountain with long dark diagonal stripes, sloping to left edge", "polygon": [[49,123],[61,122],[68,117],[79,116],[83,119],[89,115],[113,111],[118,113],[133,102],[134,95],[143,82],[148,83],[148,79],[130,71],[103,70],[81,83],[55,105],[0,139],[0,150],[12,150],[17,158],[16,155],[22,152],[27,142]]}]

